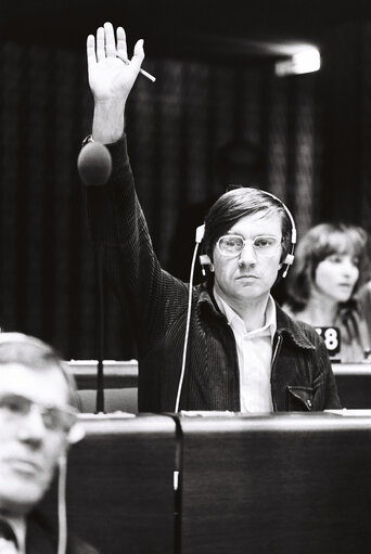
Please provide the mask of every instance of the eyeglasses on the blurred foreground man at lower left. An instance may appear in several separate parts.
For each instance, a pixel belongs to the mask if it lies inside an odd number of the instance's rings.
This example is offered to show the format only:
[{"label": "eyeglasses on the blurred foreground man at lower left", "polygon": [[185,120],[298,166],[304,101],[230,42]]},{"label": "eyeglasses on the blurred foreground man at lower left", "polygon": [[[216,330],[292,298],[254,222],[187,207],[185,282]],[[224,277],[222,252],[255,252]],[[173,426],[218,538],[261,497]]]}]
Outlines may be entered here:
[{"label": "eyeglasses on the blurred foreground man at lower left", "polygon": [[77,418],[74,409],[61,409],[34,402],[21,395],[0,395],[0,416],[5,422],[18,423],[30,412],[37,411],[47,429],[68,433]]}]

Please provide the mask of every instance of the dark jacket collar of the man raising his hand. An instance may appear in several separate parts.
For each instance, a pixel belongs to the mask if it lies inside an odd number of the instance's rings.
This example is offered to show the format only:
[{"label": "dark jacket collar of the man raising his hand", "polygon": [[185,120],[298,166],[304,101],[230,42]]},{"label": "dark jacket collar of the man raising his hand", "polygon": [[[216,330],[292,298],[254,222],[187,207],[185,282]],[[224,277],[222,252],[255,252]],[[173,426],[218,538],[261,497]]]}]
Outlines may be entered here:
[{"label": "dark jacket collar of the man raising his hand", "polygon": [[[213,297],[213,286],[207,285],[207,283],[202,283],[201,285],[197,285],[196,288],[199,289],[197,305],[200,309],[202,311],[206,310],[208,313],[213,313],[215,317],[223,318],[227,321],[226,317],[221,313]],[[316,345],[303,332],[302,327],[292,318],[290,318],[277,302],[276,309],[277,333],[286,336],[299,348],[315,350]]]}]

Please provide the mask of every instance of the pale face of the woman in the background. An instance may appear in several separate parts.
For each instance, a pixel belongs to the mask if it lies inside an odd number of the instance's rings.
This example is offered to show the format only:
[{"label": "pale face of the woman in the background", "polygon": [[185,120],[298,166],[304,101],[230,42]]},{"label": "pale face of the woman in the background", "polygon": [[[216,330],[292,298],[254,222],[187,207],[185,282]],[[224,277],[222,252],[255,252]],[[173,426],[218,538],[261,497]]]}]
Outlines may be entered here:
[{"label": "pale face of the woman in the background", "polygon": [[315,284],[324,296],[336,302],[347,301],[359,278],[358,259],[348,254],[332,254],[316,270]]}]

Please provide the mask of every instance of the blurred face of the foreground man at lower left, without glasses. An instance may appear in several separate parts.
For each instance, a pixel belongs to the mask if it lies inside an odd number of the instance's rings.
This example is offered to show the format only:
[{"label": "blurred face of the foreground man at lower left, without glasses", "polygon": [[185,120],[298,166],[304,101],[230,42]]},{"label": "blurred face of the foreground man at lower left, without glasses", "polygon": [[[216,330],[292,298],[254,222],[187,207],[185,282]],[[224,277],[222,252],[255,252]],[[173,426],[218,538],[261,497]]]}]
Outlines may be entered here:
[{"label": "blurred face of the foreground man at lower left, without glasses", "polygon": [[[8,394],[67,408],[67,385],[56,368],[0,366],[0,397]],[[48,427],[36,409],[13,418],[0,408],[0,510],[22,515],[42,498],[67,445],[65,431]]]}]

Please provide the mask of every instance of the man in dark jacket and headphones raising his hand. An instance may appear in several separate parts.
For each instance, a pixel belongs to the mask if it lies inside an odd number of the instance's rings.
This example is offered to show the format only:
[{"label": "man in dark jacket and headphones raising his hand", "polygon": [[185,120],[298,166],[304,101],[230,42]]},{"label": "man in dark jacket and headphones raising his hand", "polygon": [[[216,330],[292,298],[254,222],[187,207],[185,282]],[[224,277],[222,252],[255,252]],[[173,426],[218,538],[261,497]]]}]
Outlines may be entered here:
[{"label": "man in dark jacket and headphones raising his hand", "polygon": [[205,283],[193,287],[164,271],[137,198],[124,130],[143,41],[129,60],[124,29],[115,34],[105,23],[88,37],[87,55],[94,116],[85,143],[103,143],[112,158],[106,184],[86,188],[87,210],[110,283],[132,322],[139,411],[340,408],[323,342],[270,295],[293,261],[296,230],[286,206],[257,189],[231,190],[197,233],[210,270]]}]

